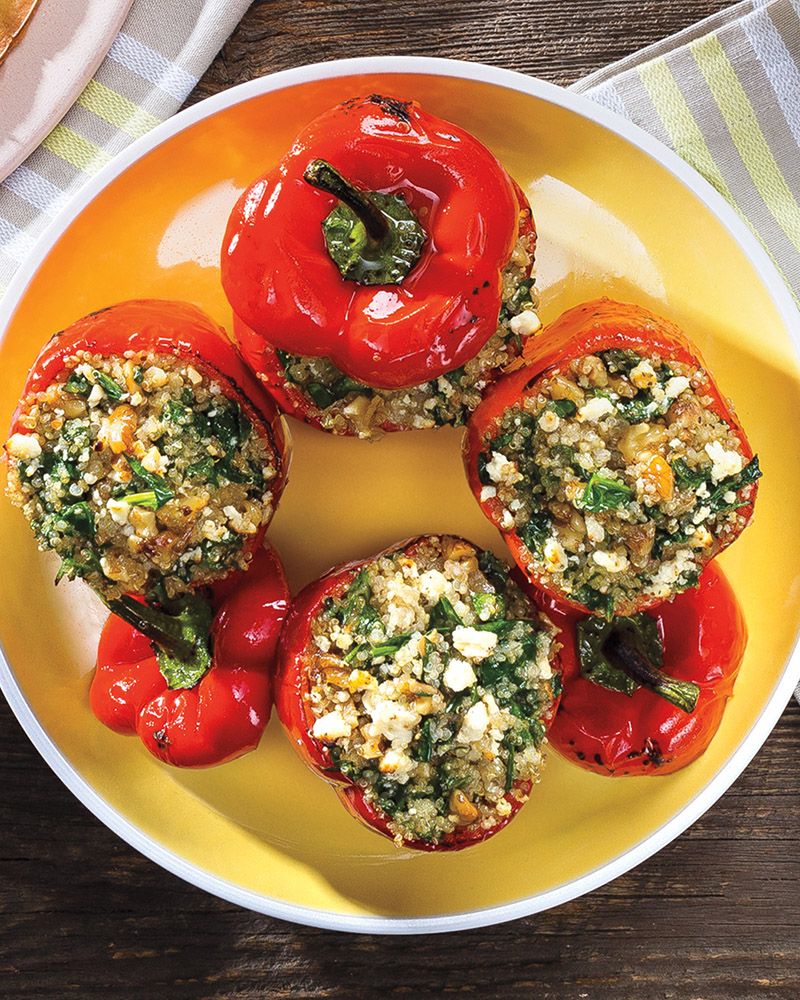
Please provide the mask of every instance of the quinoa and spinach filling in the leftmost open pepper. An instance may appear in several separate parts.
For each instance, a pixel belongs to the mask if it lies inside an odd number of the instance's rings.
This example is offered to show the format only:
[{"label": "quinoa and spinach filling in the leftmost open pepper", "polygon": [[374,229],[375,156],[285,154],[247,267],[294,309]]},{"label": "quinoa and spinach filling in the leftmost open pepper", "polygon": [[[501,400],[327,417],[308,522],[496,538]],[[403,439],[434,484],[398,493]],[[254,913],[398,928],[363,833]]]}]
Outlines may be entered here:
[{"label": "quinoa and spinach filling in the leftmost open pepper", "polygon": [[220,382],[172,356],[79,352],[23,407],[8,493],[59,578],[174,596],[246,568],[278,466]]}]

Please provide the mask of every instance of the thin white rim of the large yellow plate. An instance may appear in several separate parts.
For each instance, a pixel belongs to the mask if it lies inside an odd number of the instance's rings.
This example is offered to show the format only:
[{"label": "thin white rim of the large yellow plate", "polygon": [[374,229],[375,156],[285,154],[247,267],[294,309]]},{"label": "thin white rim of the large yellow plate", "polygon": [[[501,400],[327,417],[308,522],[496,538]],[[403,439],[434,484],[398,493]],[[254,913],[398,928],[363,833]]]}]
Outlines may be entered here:
[{"label": "thin white rim of the large yellow plate", "polygon": [[[3,299],[0,300],[0,341],[23,294],[55,242],[84,208],[131,164],[197,122],[243,101],[298,84],[368,74],[449,76],[494,84],[558,105],[627,140],[681,181],[734,237],[768,290],[781,320],[790,333],[795,352],[800,357],[800,313],[769,255],[737,212],[711,184],[677,154],[638,126],[594,104],[581,94],[572,93],[513,70],[464,60],[417,56],[356,57],[310,63],[282,70],[215,94],[157,125],[89,178],[41,234],[31,254],[16,272]],[[567,903],[618,878],[683,833],[727,791],[772,732],[798,681],[800,681],[800,640],[795,642],[783,673],[760,715],[717,774],[671,819],[611,861],[554,889],[526,896],[511,903],[437,916],[385,917],[339,913],[287,903],[243,889],[166,850],[155,838],[143,833],[121,815],[69,763],[33,712],[11,671],[5,651],[0,647],[0,689],[22,728],[45,762],[67,788],[105,826],[131,847],[192,885],[238,906],[292,923],[360,934],[431,934],[486,927],[531,916]]]}]

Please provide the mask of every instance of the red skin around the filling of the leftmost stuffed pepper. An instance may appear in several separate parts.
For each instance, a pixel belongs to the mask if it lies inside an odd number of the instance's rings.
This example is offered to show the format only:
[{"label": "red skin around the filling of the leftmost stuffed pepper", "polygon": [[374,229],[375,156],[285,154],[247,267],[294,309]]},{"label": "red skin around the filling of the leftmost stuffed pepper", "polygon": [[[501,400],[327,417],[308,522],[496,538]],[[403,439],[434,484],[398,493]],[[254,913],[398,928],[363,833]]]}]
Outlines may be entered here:
[{"label": "red skin around the filling of the leftmost stuffed pepper", "polygon": [[[228,399],[239,403],[256,434],[271,445],[278,470],[272,481],[273,507],[277,506],[289,467],[290,447],[280,414],[225,331],[201,309],[188,302],[137,299],[90,313],[55,334],[42,348],[28,373],[21,398],[42,392],[63,375],[65,359],[77,351],[101,356],[126,351],[179,356],[199,372],[217,380]],[[19,423],[22,404],[12,418],[9,437],[24,431]],[[13,461],[13,459],[12,459]],[[255,552],[266,525],[246,541]]]}]

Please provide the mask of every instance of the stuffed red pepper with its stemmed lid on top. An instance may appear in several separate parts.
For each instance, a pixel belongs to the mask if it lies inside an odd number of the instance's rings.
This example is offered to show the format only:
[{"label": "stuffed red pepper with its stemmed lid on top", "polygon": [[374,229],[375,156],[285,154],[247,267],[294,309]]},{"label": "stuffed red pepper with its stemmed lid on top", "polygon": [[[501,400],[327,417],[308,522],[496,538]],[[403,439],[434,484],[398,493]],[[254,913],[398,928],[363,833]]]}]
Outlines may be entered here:
[{"label": "stuffed red pepper with its stemmed lid on top", "polygon": [[375,437],[464,422],[539,325],[535,242],[485,146],[373,94],[317,118],[244,192],[222,283],[281,406]]}]

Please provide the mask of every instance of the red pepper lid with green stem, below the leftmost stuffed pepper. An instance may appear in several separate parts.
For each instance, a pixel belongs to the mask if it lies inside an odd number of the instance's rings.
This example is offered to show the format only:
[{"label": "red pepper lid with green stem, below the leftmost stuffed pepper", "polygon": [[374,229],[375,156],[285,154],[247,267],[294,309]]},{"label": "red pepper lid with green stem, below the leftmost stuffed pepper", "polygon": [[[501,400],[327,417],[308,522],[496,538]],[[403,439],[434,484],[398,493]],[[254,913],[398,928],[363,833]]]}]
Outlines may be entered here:
[{"label": "red pepper lid with green stem, below the leftmost stuffed pepper", "polygon": [[112,601],[117,614],[100,636],[92,711],[176,767],[211,767],[254,750],[272,711],[289,599],[269,546],[246,573],[217,583],[210,600],[193,593],[163,607]]}]

